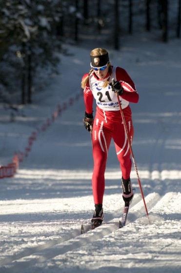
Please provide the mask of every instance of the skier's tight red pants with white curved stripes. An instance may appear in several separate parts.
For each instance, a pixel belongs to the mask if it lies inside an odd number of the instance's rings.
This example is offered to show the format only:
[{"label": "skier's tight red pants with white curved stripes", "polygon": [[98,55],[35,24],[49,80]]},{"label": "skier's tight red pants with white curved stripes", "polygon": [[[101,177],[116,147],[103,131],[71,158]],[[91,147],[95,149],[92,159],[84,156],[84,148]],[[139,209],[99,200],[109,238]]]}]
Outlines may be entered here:
[{"label": "skier's tight red pants with white curved stripes", "polygon": [[[132,143],[134,129],[132,120],[126,122]],[[102,204],[103,194],[105,188],[104,173],[106,168],[108,150],[113,138],[116,148],[118,160],[120,162],[121,172],[124,179],[128,179],[131,173],[132,161],[130,158],[130,149],[124,125],[122,120],[120,122],[105,121],[95,117],[92,145],[94,158],[94,171],[92,176],[92,187],[95,204]]]}]

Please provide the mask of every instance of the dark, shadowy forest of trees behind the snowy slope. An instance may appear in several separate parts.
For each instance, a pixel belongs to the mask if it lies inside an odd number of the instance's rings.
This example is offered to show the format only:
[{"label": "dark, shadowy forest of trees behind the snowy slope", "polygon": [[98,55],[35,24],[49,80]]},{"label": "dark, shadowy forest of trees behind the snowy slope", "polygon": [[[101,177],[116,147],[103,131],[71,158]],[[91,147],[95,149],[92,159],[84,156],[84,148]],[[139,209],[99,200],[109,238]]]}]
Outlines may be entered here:
[{"label": "dark, shadowy forest of trees behind the snowy slope", "polygon": [[1,0],[0,6],[0,102],[12,119],[43,90],[42,71],[47,78],[59,73],[66,44],[121,50],[135,33],[152,32],[165,43],[181,38],[181,0]]}]

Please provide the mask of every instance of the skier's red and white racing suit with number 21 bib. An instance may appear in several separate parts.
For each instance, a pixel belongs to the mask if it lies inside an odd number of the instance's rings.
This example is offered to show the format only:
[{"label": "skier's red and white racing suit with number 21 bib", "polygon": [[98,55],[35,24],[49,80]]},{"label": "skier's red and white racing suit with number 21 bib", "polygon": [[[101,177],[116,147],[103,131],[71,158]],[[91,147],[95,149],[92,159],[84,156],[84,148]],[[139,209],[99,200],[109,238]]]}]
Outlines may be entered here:
[{"label": "skier's red and white racing suit with number 21 bib", "polygon": [[[85,74],[82,79],[87,77]],[[89,80],[84,88],[85,112],[93,112],[93,100],[96,99],[97,108],[94,118],[92,132],[92,146],[94,171],[92,176],[92,187],[95,204],[102,204],[105,188],[104,173],[108,150],[113,138],[118,160],[120,162],[121,172],[124,179],[130,177],[132,161],[130,158],[130,149],[127,141],[124,125],[122,122],[120,107],[117,95],[112,91],[111,86],[102,87],[103,83],[109,78],[120,81],[124,92],[119,96],[122,112],[126,121],[131,143],[133,141],[132,113],[129,102],[137,103],[139,95],[132,79],[121,67],[112,67],[104,79],[99,79],[94,71],[90,74]],[[131,193],[132,195],[132,193]],[[126,196],[128,197],[128,196]]]}]

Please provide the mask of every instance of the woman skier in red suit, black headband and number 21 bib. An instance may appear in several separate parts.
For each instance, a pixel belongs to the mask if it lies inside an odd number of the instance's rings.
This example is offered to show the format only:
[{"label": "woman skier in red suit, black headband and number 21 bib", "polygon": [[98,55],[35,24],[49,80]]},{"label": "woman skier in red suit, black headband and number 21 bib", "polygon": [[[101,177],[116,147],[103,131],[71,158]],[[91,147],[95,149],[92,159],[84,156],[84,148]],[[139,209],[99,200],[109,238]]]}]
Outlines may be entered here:
[{"label": "woman skier in red suit, black headband and number 21 bib", "polygon": [[[133,197],[130,180],[131,153],[122,122],[117,94],[119,94],[131,143],[133,141],[134,129],[129,102],[137,103],[139,95],[133,80],[127,72],[121,67],[111,65],[106,49],[93,49],[90,53],[90,59],[91,70],[83,76],[81,87],[84,90],[85,103],[83,123],[92,136],[94,159],[92,188],[95,211],[91,221],[96,226],[100,225],[103,220],[104,173],[112,138],[121,167],[123,200],[125,203],[129,203]],[[113,78],[115,81],[112,83]],[[97,103],[95,118],[93,117],[94,98]]]}]

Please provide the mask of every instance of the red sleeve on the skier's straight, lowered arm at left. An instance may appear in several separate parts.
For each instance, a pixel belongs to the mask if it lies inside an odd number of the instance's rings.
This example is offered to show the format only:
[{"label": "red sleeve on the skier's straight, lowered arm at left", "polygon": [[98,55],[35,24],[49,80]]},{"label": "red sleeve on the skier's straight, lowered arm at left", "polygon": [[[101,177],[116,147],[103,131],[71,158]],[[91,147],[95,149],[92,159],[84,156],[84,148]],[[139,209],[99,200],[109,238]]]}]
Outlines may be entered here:
[{"label": "red sleeve on the skier's straight, lowered arm at left", "polygon": [[[87,76],[88,76],[88,73],[83,76],[82,80],[86,78]],[[90,89],[89,80],[87,81],[86,86],[83,90],[83,98],[85,103],[85,112],[87,114],[92,114],[94,96],[92,94],[92,90]]]}]

